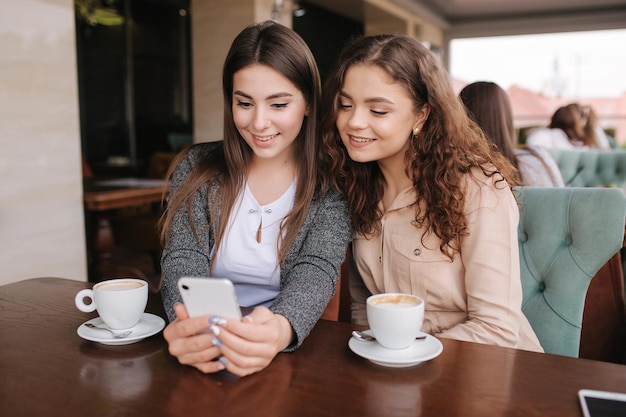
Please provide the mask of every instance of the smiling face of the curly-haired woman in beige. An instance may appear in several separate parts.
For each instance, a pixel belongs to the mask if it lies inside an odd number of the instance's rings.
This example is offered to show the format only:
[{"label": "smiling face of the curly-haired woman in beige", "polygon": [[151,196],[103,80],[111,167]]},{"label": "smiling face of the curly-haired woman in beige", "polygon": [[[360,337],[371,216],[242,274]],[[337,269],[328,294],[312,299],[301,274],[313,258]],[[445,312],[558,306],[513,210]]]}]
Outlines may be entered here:
[{"label": "smiling face of the curly-haired woman in beige", "polygon": [[336,125],[353,160],[404,167],[409,138],[423,125],[424,113],[415,111],[406,89],[384,70],[358,64],[346,71]]}]

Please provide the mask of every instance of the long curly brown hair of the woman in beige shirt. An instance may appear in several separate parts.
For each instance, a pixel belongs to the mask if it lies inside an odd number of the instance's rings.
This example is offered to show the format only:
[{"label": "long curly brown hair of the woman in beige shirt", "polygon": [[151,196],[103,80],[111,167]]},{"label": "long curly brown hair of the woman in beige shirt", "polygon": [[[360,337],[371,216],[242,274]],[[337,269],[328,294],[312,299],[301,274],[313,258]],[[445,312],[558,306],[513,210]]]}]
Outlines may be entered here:
[{"label": "long curly brown hair of the woman in beige shirt", "polygon": [[380,232],[383,213],[378,204],[384,194],[384,178],[375,161],[357,163],[350,159],[335,125],[345,74],[356,64],[384,70],[406,89],[416,112],[424,105],[430,108],[422,131],[407,138],[407,175],[417,194],[413,223],[435,233],[442,241],[441,251],[454,256],[467,235],[463,178],[478,168],[513,186],[519,184],[517,170],[467,116],[446,71],[428,49],[405,35],[356,38],[343,49],[324,86],[322,137],[325,146],[333,150],[334,186],[346,194],[357,233],[367,236]]}]

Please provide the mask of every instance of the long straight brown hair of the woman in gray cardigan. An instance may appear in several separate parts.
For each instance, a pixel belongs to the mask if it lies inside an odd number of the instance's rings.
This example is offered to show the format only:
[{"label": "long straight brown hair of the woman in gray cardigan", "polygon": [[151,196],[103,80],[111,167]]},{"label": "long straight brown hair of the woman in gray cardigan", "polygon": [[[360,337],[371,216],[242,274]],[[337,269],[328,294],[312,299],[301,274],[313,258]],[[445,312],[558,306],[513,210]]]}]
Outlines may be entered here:
[{"label": "long straight brown hair of the woman in gray cardigan", "polygon": [[[246,27],[233,41],[222,74],[224,95],[224,140],[221,151],[199,161],[174,194],[170,196],[161,221],[161,239],[167,243],[172,219],[185,204],[191,216],[193,197],[206,183],[219,187],[220,199],[209,196],[211,226],[215,232],[215,248],[223,240],[231,208],[240,194],[248,166],[252,160],[252,150],[239,134],[233,121],[233,77],[234,74],[250,65],[262,64],[275,69],[289,79],[303,94],[307,102],[308,115],[295,140],[297,163],[297,185],[294,206],[281,224],[279,233],[278,259],[285,260],[289,247],[304,223],[316,190],[327,188],[327,177],[318,165],[319,135],[318,109],[321,97],[321,81],[315,58],[304,40],[293,30],[280,24],[267,21]],[[184,155],[172,164],[171,174]],[[223,210],[219,206],[224,207]],[[192,227],[193,219],[190,218]],[[197,231],[194,228],[194,233]]]}]

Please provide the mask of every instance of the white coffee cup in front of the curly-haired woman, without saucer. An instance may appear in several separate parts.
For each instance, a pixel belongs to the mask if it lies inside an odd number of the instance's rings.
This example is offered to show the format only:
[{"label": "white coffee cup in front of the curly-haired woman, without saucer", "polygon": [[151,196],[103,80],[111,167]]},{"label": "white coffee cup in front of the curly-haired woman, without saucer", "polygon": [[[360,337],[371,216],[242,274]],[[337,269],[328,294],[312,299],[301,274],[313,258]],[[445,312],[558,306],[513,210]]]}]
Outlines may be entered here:
[{"label": "white coffee cup in front of the curly-haired woman, without saucer", "polygon": [[409,347],[424,322],[424,300],[412,294],[372,295],[367,298],[366,311],[376,340],[388,349]]}]

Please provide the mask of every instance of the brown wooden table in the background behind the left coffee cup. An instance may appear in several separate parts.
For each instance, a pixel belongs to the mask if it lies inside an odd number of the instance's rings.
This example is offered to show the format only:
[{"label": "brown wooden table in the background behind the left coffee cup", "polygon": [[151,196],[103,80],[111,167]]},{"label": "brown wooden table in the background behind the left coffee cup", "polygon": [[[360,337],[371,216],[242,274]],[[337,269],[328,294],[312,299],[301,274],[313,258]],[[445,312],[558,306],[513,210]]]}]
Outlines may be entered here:
[{"label": "brown wooden table in the background behind the left coffee cup", "polygon": [[168,183],[162,180],[122,178],[117,180],[85,181],[83,200],[85,210],[94,214],[93,239],[90,242],[93,260],[89,268],[90,281],[111,276],[136,276],[148,280],[137,268],[113,265],[115,237],[111,226],[113,210],[157,203],[163,200]]}]

